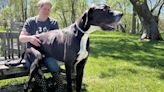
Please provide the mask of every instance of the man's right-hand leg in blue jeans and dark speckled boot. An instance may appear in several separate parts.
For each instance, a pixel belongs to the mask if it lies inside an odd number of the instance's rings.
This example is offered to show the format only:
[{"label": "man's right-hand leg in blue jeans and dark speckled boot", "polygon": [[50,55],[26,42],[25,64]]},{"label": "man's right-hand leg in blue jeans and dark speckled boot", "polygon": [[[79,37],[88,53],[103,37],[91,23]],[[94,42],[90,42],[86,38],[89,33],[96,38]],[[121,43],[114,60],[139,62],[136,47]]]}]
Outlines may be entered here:
[{"label": "man's right-hand leg in blue jeans and dark speckled boot", "polygon": [[45,58],[44,64],[48,68],[48,70],[52,73],[53,79],[57,83],[57,89],[55,92],[63,92],[64,85],[63,85],[62,76],[59,73],[60,66],[57,63],[57,60],[52,57],[47,57]]}]

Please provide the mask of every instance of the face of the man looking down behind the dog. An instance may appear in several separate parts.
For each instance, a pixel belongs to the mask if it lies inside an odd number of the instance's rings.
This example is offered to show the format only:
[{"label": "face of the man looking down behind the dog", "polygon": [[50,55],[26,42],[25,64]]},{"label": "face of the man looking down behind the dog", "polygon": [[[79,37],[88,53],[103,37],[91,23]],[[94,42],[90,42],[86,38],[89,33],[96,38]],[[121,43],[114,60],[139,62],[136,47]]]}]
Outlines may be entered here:
[{"label": "face of the man looking down behind the dog", "polygon": [[43,16],[49,16],[51,11],[51,5],[50,4],[44,4],[39,8],[39,13]]}]

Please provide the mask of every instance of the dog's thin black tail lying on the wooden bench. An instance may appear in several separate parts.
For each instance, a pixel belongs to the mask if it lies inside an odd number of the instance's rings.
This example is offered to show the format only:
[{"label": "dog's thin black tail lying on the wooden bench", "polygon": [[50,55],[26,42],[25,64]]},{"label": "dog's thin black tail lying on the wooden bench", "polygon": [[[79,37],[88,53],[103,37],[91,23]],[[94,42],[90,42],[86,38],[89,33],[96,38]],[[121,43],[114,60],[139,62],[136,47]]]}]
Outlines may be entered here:
[{"label": "dog's thin black tail lying on the wooden bench", "polygon": [[16,63],[11,63],[11,62],[10,62],[11,60],[8,60],[8,61],[5,63],[5,66],[10,67],[10,66],[18,66],[18,65],[22,64],[22,61],[23,61],[23,59],[24,59],[24,57],[25,57],[25,52],[26,52],[26,51],[24,51],[24,52],[22,53],[22,55],[21,55],[20,59],[18,60],[18,62],[16,62]]}]

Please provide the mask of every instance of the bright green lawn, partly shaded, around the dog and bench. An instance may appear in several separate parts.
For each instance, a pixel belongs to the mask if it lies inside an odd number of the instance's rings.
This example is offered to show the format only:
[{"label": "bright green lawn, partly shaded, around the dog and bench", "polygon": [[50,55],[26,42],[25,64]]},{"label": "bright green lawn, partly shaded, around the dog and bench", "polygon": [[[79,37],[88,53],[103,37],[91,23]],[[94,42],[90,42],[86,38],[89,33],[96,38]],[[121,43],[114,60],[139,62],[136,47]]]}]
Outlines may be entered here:
[{"label": "bright green lawn, partly shaded, around the dog and bench", "polygon": [[[119,32],[96,32],[90,40],[83,78],[87,92],[163,92],[164,42],[142,42],[138,35]],[[0,87],[24,81],[0,80]]]}]

